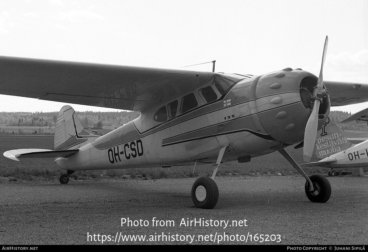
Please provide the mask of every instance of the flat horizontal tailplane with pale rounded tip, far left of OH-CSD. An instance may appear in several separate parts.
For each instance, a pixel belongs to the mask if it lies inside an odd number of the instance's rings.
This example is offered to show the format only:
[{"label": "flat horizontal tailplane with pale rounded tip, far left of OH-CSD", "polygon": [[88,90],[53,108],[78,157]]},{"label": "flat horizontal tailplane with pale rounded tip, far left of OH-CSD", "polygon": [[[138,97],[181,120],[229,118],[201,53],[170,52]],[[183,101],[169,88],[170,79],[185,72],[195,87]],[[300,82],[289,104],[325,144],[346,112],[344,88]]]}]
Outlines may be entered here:
[{"label": "flat horizontal tailplane with pale rounded tip, far left of OH-CSD", "polygon": [[4,157],[19,161],[18,158],[57,158],[69,157],[79,150],[47,150],[47,149],[17,149],[4,152]]}]

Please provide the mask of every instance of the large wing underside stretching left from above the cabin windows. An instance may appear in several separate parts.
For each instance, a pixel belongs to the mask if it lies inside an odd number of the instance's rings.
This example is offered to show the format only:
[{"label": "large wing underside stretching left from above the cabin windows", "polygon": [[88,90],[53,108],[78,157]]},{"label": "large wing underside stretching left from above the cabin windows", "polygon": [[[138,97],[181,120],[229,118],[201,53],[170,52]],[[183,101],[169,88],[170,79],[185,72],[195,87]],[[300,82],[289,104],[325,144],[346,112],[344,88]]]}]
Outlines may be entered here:
[{"label": "large wing underside stretching left from above the cabin windows", "polygon": [[0,56],[0,94],[143,111],[213,73]]}]

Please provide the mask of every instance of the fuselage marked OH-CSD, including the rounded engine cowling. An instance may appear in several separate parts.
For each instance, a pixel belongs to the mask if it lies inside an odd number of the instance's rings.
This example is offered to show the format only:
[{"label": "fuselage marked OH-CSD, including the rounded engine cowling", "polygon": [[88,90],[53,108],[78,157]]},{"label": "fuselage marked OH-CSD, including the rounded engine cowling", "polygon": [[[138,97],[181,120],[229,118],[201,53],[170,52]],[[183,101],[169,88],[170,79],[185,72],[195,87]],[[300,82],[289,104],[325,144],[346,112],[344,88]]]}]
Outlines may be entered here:
[{"label": "fuselage marked OH-CSD, including the rounded engine cowling", "polygon": [[[311,108],[306,93],[316,81],[311,73],[291,69],[257,77],[216,73],[190,95],[143,111],[84,146],[71,146],[79,148],[78,153],[56,162],[72,171],[213,163],[227,144],[222,161],[247,162],[303,140]],[[213,101],[203,97],[207,89],[215,93]],[[195,97],[191,104],[197,106],[185,111],[184,99],[189,96]],[[324,98],[319,127],[329,105],[329,98]]]}]

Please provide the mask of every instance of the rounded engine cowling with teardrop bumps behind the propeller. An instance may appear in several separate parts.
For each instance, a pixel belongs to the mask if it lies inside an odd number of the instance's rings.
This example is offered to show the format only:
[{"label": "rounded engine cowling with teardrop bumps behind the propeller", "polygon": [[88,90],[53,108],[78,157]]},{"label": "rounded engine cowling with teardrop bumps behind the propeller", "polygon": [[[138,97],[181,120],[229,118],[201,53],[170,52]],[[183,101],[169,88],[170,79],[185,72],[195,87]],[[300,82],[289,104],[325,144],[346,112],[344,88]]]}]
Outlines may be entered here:
[{"label": "rounded engine cowling with teardrop bumps behind the propeller", "polygon": [[[284,144],[299,143],[311,115],[313,87],[318,78],[301,69],[286,68],[264,74],[252,83],[249,92],[256,101],[259,120],[273,139]],[[325,87],[324,87],[325,88]],[[330,98],[319,108],[318,129],[330,111]]]}]

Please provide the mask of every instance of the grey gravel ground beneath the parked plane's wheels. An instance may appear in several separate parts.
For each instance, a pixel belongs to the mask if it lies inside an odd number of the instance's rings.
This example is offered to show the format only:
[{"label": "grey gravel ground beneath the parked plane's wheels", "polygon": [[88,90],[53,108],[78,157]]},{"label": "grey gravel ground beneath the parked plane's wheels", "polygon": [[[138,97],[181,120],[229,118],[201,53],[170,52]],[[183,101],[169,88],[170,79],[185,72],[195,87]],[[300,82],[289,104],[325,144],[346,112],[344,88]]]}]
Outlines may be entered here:
[{"label": "grey gravel ground beneath the parked plane's wheels", "polygon": [[[219,177],[219,201],[210,210],[194,207],[190,190],[195,179],[189,178],[3,182],[0,244],[102,244],[102,239],[107,239],[103,244],[212,244],[215,236],[215,244],[245,244],[241,239],[247,237],[247,244],[368,244],[368,177],[328,179],[330,200],[312,203],[300,175]],[[121,218],[133,222],[122,225]],[[153,218],[159,222],[152,227]],[[207,226],[185,226],[183,220],[203,220]],[[146,235],[146,241],[115,242],[120,232]],[[248,233],[255,235],[252,241]],[[261,235],[269,241],[260,242]]]}]

